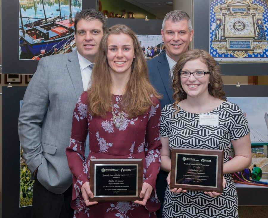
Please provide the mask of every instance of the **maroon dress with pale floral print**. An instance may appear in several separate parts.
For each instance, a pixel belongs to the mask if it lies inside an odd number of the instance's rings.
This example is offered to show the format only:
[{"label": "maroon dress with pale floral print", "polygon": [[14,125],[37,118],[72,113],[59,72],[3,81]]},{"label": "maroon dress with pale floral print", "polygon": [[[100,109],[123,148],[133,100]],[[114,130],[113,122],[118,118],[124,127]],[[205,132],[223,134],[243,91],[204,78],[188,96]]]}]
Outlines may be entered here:
[{"label": "maroon dress with pale floral print", "polygon": [[[162,145],[159,138],[161,107],[159,100],[152,97],[155,105],[143,115],[129,119],[124,114],[120,128],[113,123],[112,113],[105,118],[88,113],[87,92],[83,92],[73,114],[70,144],[66,149],[68,165],[73,174],[73,196],[71,207],[74,218],[80,217],[156,217],[160,207],[156,196],[155,181],[159,172]],[[121,111],[122,96],[114,96],[114,112]],[[89,131],[89,156],[85,159],[85,139]],[[134,202],[99,202],[87,207],[82,197],[81,187],[89,181],[89,159],[107,158],[143,159],[143,180],[153,187],[146,206]],[[91,190],[92,191],[92,190]]]}]

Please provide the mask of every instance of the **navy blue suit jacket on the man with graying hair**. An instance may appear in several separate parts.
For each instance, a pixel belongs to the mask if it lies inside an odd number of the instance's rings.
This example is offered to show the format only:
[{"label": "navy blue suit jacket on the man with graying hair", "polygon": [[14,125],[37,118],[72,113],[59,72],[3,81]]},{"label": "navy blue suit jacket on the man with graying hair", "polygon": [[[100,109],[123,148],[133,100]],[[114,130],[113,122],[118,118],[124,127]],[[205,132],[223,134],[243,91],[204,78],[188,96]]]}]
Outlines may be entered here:
[{"label": "navy blue suit jacket on the man with graying hair", "polygon": [[152,85],[162,94],[160,99],[161,109],[165,105],[173,103],[172,79],[169,73],[169,63],[166,59],[166,52],[160,53],[158,56],[147,61],[149,78]]}]

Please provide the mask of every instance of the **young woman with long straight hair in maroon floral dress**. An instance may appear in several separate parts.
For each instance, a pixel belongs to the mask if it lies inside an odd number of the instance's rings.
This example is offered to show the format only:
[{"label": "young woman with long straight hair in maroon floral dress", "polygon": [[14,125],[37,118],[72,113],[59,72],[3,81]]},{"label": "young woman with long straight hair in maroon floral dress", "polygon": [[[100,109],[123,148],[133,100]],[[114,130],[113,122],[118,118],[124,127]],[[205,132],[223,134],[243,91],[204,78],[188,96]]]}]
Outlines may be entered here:
[{"label": "young woman with long straight hair in maroon floral dress", "polygon": [[[91,76],[74,109],[66,149],[73,173],[74,217],[156,217],[155,181],[160,168],[161,107],[149,82],[135,33],[119,24],[103,36]],[[85,139],[89,132],[89,156]],[[143,184],[134,202],[96,202],[89,184],[89,159],[143,159]]]}]

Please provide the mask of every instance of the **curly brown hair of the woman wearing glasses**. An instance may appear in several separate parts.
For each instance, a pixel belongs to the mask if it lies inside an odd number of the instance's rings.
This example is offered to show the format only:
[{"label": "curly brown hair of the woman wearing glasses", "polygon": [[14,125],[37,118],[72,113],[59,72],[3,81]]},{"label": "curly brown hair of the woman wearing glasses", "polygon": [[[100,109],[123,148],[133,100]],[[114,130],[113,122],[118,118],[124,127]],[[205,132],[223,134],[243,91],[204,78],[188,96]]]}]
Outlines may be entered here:
[{"label": "curly brown hair of the woman wearing glasses", "polygon": [[177,64],[173,68],[173,106],[180,101],[187,98],[186,92],[183,90],[180,82],[180,71],[183,69],[186,62],[200,59],[205,65],[208,66],[208,70],[210,71],[209,84],[208,84],[208,93],[215,98],[226,100],[225,91],[223,91],[223,81],[220,73],[220,66],[214,60],[211,55],[205,51],[200,49],[189,50],[183,55],[180,56]]}]

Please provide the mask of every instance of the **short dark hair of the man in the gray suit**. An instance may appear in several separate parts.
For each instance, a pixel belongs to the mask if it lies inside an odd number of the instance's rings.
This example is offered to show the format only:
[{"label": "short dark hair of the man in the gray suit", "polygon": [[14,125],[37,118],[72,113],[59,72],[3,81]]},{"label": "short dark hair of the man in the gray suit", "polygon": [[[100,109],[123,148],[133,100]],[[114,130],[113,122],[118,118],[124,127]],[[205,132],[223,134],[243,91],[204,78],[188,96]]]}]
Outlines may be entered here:
[{"label": "short dark hair of the man in the gray suit", "polygon": [[82,19],[86,21],[99,20],[100,22],[102,22],[103,34],[107,30],[107,19],[105,18],[105,16],[103,15],[101,11],[96,10],[96,9],[84,9],[84,10],[81,10],[80,12],[77,12],[74,16],[75,34],[77,31],[77,23]]}]

